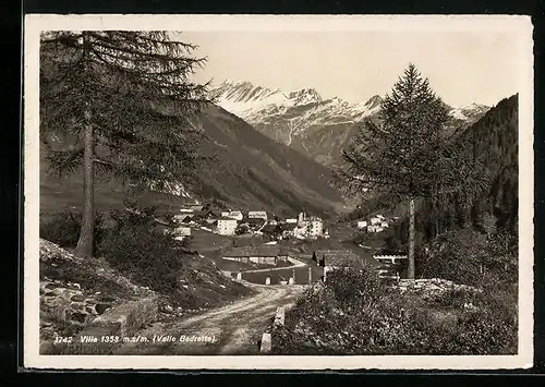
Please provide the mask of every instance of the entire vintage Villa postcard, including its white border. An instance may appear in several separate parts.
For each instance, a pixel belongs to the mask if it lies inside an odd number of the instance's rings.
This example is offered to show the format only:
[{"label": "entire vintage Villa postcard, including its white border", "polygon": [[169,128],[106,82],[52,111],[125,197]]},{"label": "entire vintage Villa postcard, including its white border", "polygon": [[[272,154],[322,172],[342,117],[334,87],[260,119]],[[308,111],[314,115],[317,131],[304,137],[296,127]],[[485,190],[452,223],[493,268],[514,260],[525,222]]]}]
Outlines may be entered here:
[{"label": "entire vintage Villa postcard, including its white border", "polygon": [[523,16],[27,15],[25,366],[532,365]]}]

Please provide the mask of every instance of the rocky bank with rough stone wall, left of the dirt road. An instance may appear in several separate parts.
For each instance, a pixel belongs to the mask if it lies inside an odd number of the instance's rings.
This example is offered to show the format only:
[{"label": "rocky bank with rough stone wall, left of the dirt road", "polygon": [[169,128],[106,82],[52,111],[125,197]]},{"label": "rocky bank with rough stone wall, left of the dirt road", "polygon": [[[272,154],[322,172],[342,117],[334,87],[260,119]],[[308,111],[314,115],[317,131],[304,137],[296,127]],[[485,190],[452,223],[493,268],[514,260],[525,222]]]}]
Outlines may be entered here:
[{"label": "rocky bank with rough stone wall, left of the dirt road", "polygon": [[[45,240],[40,240],[39,253],[41,354],[108,353],[97,343],[81,352],[80,336],[130,335],[155,318],[156,293],[106,262],[82,259]],[[56,343],[58,338],[71,342]]]}]

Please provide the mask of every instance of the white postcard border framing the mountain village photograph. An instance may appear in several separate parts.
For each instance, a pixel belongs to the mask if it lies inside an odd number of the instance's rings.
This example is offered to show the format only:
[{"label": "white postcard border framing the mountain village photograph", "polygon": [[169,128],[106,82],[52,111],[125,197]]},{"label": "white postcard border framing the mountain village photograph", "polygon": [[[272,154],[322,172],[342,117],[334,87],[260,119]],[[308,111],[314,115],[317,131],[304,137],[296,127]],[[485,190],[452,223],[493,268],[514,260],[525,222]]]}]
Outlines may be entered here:
[{"label": "white postcard border framing the mountain village photograph", "polygon": [[[63,29],[498,31],[520,34],[519,354],[498,356],[165,356],[39,354],[39,34]],[[81,370],[498,370],[533,363],[533,27],[516,15],[53,15],[24,21],[24,366]]]}]

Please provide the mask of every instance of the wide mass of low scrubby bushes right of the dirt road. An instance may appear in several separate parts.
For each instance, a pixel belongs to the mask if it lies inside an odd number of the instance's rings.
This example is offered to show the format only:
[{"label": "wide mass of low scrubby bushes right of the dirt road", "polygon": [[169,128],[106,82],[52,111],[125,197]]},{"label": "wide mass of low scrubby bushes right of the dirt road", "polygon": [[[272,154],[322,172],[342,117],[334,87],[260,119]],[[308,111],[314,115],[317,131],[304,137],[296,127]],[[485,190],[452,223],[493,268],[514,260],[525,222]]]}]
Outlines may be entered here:
[{"label": "wide mass of low scrubby bushes right of the dirt road", "polygon": [[[274,332],[279,354],[510,354],[516,287],[446,291],[426,302],[389,291],[373,270],[336,270]],[[464,304],[475,307],[465,309]]]}]

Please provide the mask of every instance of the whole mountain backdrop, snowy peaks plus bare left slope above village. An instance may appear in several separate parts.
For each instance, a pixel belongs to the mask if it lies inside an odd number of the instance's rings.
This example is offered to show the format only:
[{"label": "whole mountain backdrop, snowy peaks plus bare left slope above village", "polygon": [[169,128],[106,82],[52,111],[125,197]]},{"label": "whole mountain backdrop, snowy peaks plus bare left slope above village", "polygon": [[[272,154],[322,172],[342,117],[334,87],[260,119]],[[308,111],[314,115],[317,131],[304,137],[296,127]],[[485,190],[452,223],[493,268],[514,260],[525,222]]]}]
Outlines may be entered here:
[{"label": "whole mountain backdrop, snowy peaks plus bare left slope above village", "polygon": [[[284,93],[247,82],[223,82],[213,96],[216,104],[203,109],[195,125],[205,134],[201,152],[214,156],[214,162],[199,170],[198,184],[150,192],[144,195],[146,203],[177,208],[184,202],[214,198],[225,208],[280,216],[300,210],[327,216],[351,209],[332,186],[329,166],[339,160],[362,120],[379,112],[380,96],[351,104],[325,99],[313,88]],[[451,108],[452,125],[469,125],[487,110],[476,104]],[[41,210],[81,208],[81,171],[56,178],[48,173],[45,153],[40,148]],[[125,197],[120,183],[102,179],[95,194],[98,210],[120,207]]]}]

